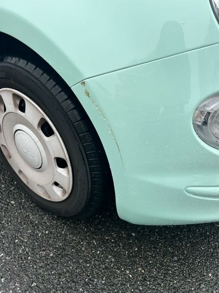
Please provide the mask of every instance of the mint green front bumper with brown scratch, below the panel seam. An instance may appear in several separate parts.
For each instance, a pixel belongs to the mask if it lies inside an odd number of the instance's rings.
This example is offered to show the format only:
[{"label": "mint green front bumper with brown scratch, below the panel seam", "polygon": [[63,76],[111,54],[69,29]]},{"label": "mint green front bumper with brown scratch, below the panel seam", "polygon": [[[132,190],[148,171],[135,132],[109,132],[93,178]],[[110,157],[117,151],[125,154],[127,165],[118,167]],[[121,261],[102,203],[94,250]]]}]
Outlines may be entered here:
[{"label": "mint green front bumper with brown scratch, below the panel seam", "polygon": [[[219,92],[219,45],[89,79],[73,91],[104,138],[121,218],[150,225],[219,220],[219,150],[192,126],[197,105]],[[211,188],[203,197],[190,187]]]}]

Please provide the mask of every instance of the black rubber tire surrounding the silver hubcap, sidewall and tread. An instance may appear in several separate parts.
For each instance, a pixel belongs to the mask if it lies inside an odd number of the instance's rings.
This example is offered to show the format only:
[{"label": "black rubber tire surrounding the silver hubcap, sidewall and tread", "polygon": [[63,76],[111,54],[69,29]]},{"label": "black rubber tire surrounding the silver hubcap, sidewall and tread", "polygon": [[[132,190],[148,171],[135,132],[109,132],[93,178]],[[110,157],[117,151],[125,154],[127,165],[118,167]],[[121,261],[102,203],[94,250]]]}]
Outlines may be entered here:
[{"label": "black rubber tire surrounding the silver hubcap, sidewall and tread", "polygon": [[[0,157],[21,188],[40,207],[60,216],[85,218],[106,201],[109,164],[100,139],[71,88],[31,50],[0,48],[0,89],[16,89],[50,118],[67,148],[73,168],[73,189],[61,202],[48,201],[28,188]],[[109,178],[107,178],[109,177]]]}]

